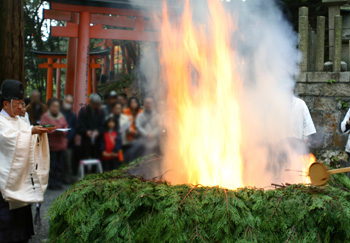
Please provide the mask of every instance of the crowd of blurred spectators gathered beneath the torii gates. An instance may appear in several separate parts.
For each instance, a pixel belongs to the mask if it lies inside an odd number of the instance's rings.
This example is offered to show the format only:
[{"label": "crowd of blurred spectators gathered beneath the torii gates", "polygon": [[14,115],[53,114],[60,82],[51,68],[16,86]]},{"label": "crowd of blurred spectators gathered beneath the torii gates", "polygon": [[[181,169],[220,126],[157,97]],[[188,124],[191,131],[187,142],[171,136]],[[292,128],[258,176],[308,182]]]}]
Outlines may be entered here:
[{"label": "crowd of blurred spectators gathered beneath the torii gates", "polygon": [[84,159],[99,159],[103,170],[110,171],[138,157],[160,153],[161,116],[152,97],[141,103],[137,97],[128,98],[116,91],[110,91],[104,99],[94,93],[77,113],[71,95],[44,104],[40,93],[33,91],[27,102],[22,114],[26,122],[68,128],[48,134],[49,189],[74,183],[79,162]]}]

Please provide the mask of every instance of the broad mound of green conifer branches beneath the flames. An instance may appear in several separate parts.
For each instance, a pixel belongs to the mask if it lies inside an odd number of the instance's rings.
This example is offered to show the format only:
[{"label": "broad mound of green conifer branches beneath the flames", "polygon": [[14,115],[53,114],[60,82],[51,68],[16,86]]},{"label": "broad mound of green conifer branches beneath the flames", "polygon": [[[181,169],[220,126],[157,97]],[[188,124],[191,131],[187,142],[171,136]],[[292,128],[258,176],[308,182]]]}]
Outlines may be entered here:
[{"label": "broad mound of green conifer branches beneath the flames", "polygon": [[[134,165],[135,166],[135,165]],[[350,181],[264,191],[89,175],[51,206],[50,242],[348,242]]]}]

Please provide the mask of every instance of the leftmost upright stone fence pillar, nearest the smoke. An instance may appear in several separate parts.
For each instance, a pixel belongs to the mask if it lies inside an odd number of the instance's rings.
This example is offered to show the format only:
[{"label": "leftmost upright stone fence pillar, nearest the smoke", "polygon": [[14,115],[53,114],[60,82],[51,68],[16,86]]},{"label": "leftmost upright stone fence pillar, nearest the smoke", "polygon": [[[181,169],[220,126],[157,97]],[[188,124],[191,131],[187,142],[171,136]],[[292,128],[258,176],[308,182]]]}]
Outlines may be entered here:
[{"label": "leftmost upright stone fence pillar, nearest the smoke", "polygon": [[307,72],[308,69],[308,43],[309,43],[309,9],[307,7],[299,8],[299,51],[302,55],[299,63],[301,72]]}]

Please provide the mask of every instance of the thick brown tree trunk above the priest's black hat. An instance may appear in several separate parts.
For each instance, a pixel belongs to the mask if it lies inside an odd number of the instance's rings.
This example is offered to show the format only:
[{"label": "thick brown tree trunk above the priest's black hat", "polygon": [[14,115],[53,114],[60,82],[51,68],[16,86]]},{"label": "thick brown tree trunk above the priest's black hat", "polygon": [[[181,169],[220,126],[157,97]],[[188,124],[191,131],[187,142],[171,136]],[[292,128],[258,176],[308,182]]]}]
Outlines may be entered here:
[{"label": "thick brown tree trunk above the priest's black hat", "polygon": [[24,82],[23,0],[1,0],[0,21],[0,85],[5,79]]}]

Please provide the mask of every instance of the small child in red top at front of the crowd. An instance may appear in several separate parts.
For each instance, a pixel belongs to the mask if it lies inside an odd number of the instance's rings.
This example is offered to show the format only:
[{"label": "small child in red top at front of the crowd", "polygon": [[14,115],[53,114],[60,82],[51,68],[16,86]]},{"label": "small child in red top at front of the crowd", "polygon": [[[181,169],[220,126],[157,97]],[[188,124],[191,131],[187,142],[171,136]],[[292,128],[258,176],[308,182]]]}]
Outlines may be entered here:
[{"label": "small child in red top at front of the crowd", "polygon": [[118,168],[123,161],[122,158],[122,138],[117,132],[116,123],[113,116],[106,120],[105,132],[102,138],[102,165],[104,171],[111,171]]}]

